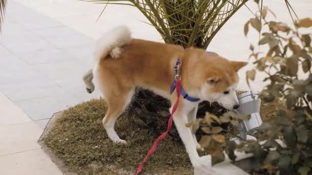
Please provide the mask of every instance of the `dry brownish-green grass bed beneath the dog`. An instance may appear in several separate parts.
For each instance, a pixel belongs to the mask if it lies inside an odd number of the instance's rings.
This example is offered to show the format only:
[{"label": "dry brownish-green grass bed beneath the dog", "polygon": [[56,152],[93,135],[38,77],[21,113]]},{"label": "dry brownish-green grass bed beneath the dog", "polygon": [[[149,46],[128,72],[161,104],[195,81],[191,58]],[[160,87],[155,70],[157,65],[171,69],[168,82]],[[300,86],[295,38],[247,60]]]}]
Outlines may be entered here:
[{"label": "dry brownish-green grass bed beneath the dog", "polygon": [[[284,103],[266,106],[274,113]],[[282,106],[277,106],[280,104]],[[212,105],[215,114],[220,110]],[[147,127],[133,122],[131,116],[121,116],[115,129],[127,145],[113,144],[102,125],[107,111],[104,100],[91,100],[54,115],[40,139],[44,149],[64,172],[75,174],[133,174],[152,143],[166,129]],[[264,113],[264,111],[262,111]],[[269,113],[271,114],[271,113]],[[263,120],[266,120],[263,116]],[[144,174],[193,174],[193,168],[175,127],[159,143],[145,164]],[[208,151],[200,151],[201,156]]]}]

